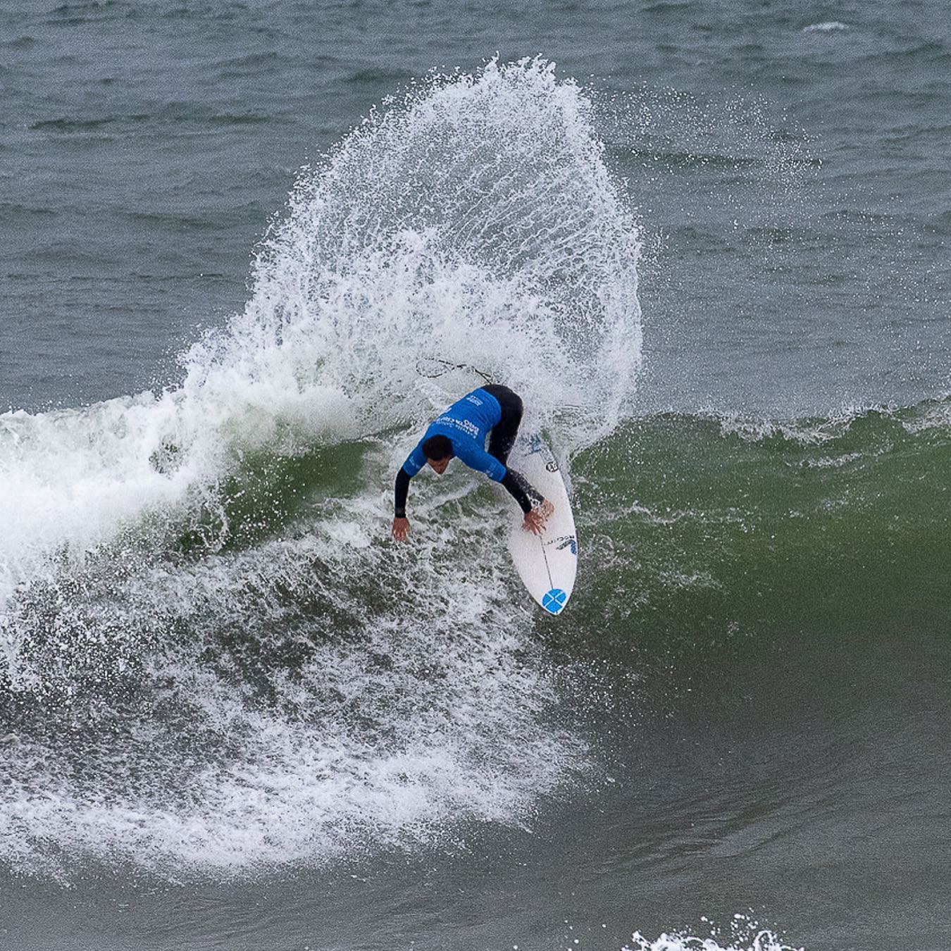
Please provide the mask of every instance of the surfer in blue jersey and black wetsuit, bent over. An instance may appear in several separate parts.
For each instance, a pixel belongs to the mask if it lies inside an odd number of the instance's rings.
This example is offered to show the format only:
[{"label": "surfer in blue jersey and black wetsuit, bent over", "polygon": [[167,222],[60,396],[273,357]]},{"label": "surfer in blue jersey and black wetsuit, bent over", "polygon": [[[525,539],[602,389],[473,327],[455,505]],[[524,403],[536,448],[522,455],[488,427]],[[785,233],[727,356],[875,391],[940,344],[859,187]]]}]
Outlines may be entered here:
[{"label": "surfer in blue jersey and black wetsuit, bent over", "polygon": [[[488,383],[456,400],[430,423],[397,473],[393,537],[402,541],[410,530],[406,517],[410,479],[427,463],[441,476],[454,456],[470,469],[501,482],[525,513],[525,530],[541,534],[546,519],[553,512],[552,503],[507,465],[521,421],[522,401],[518,395],[507,386]],[[485,448],[487,434],[488,450]]]}]

